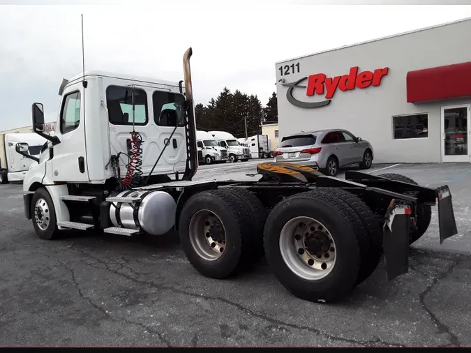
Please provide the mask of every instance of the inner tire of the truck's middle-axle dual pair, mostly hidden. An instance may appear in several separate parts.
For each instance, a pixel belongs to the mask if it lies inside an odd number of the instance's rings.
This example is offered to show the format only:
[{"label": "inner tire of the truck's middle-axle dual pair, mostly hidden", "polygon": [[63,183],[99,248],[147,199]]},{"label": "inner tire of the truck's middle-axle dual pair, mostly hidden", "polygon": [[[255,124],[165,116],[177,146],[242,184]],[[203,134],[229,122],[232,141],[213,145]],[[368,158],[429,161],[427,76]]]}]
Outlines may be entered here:
[{"label": "inner tire of the truck's middle-axle dual pair, mostly hidden", "polygon": [[251,217],[251,257],[249,263],[255,263],[264,256],[263,230],[267,220],[268,211],[262,201],[246,188],[226,188],[233,197],[239,199],[248,210]]}]

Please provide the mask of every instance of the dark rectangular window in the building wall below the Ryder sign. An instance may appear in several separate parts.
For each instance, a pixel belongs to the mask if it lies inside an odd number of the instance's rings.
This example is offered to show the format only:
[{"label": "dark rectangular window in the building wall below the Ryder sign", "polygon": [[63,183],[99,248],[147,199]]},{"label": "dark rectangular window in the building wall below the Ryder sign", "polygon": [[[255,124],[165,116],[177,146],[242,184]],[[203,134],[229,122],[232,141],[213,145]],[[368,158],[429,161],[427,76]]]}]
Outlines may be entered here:
[{"label": "dark rectangular window in the building wall below the Ryder sign", "polygon": [[428,137],[428,114],[397,115],[393,117],[393,140]]}]

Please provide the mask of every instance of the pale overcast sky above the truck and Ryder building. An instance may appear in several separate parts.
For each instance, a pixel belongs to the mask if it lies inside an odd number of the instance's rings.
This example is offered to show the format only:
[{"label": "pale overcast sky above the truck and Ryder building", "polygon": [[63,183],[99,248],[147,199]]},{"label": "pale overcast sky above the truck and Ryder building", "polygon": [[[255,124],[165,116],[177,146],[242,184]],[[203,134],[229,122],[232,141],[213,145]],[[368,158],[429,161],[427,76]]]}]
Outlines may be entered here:
[{"label": "pale overcast sky above the truck and Ryder building", "polygon": [[[41,1],[15,1],[35,2]],[[56,120],[62,78],[82,70],[81,13],[86,70],[177,82],[182,55],[193,47],[193,91],[204,104],[225,86],[257,94],[265,104],[275,90],[276,61],[471,17],[471,6],[308,0],[63,2],[82,4],[0,5],[0,130],[31,125],[33,102],[44,104],[47,121]]]}]

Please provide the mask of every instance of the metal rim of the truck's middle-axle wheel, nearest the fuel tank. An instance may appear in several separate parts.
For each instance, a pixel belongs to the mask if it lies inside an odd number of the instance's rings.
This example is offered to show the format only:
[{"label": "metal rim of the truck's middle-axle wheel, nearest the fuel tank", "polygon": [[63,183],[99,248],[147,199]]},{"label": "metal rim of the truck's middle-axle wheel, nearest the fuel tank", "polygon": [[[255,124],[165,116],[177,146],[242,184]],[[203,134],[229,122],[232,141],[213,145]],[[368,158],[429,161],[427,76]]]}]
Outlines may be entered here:
[{"label": "metal rim of the truck's middle-axle wheel, nearest the fuel tank", "polygon": [[198,256],[207,261],[217,260],[226,247],[225,228],[216,213],[197,211],[190,220],[190,243]]}]

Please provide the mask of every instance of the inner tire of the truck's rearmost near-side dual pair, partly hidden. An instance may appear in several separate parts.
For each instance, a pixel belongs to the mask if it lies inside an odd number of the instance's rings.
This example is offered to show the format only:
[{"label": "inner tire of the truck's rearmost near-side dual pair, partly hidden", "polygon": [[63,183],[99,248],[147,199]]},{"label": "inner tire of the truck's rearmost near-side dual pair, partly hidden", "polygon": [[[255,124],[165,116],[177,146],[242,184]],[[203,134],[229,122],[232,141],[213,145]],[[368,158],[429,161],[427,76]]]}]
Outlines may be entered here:
[{"label": "inner tire of the truck's rearmost near-side dual pair, partly hidden", "polygon": [[346,190],[329,188],[331,195],[336,195],[357,213],[366,230],[359,238],[361,264],[357,278],[357,285],[366,280],[377,268],[382,257],[382,231],[375,213],[357,195]]}]

